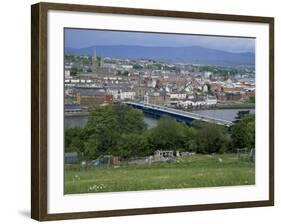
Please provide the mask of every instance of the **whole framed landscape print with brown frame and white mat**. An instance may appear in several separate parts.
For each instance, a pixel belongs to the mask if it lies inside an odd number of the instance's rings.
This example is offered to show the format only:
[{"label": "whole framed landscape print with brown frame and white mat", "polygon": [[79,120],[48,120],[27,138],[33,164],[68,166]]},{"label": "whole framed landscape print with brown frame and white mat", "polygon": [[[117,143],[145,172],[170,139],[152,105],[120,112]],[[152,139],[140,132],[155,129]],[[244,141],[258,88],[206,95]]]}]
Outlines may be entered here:
[{"label": "whole framed landscape print with brown frame and white mat", "polygon": [[32,218],[272,206],[274,18],[32,5]]}]

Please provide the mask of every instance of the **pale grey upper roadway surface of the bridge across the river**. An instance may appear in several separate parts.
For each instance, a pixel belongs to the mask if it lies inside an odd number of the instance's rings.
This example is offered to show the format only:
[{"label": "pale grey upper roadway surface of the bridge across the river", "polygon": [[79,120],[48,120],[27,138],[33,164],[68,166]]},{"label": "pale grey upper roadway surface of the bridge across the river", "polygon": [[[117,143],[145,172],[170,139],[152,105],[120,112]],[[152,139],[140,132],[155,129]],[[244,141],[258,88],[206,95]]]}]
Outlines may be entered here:
[{"label": "pale grey upper roadway surface of the bridge across the river", "polygon": [[170,115],[184,116],[186,118],[191,118],[193,120],[201,120],[201,121],[205,121],[205,122],[216,123],[219,125],[230,126],[233,124],[231,121],[226,121],[226,120],[222,120],[222,119],[218,119],[218,118],[214,118],[214,117],[210,117],[210,116],[206,116],[206,115],[199,115],[199,114],[182,111],[182,110],[177,110],[177,109],[173,109],[173,108],[169,108],[169,107],[158,106],[155,104],[138,103],[138,102],[126,102],[126,104],[145,108],[145,109],[161,111],[163,113],[170,114]]}]

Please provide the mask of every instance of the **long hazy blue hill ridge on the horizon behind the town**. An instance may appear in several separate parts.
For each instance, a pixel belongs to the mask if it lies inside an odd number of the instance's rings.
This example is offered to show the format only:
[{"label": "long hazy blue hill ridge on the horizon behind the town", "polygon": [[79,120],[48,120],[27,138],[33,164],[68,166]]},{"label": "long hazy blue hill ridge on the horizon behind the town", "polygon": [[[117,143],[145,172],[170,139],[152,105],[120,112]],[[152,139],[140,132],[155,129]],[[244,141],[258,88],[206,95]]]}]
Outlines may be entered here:
[{"label": "long hazy blue hill ridge on the horizon behind the town", "polygon": [[130,45],[99,45],[87,48],[66,48],[66,53],[92,55],[96,48],[98,56],[155,59],[166,62],[182,62],[209,65],[254,65],[254,53],[230,53],[199,46],[191,47],[146,47]]}]

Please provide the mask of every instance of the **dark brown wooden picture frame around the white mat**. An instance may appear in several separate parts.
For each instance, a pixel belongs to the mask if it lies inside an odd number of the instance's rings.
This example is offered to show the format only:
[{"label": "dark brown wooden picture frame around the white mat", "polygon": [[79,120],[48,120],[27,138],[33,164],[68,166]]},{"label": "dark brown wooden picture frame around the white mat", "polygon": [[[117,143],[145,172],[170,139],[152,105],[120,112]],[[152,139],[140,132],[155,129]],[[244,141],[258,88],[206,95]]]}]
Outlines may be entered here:
[{"label": "dark brown wooden picture frame around the white mat", "polygon": [[[210,21],[248,22],[269,25],[269,179],[268,200],[212,203],[103,211],[48,213],[48,12],[86,12],[188,18]],[[31,7],[31,217],[39,221],[94,217],[142,215],[171,212],[203,211],[274,205],[274,18],[224,15],[183,11],[162,11],[90,5],[38,3]]]}]

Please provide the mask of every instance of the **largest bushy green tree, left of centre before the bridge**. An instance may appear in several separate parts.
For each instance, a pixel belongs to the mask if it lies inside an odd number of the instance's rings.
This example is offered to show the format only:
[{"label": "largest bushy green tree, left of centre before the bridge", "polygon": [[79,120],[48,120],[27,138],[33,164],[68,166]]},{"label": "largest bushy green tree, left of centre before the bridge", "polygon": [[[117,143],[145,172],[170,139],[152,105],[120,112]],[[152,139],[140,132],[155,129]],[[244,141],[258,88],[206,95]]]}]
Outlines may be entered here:
[{"label": "largest bushy green tree, left of centre before the bridge", "polygon": [[[85,127],[85,132],[88,135],[85,148],[92,158],[105,154],[124,154],[120,147],[120,141],[126,143],[124,136],[142,134],[145,130],[146,124],[143,120],[143,114],[138,110],[124,104],[96,107],[91,111]],[[138,139],[133,137],[132,139],[132,136],[126,136],[125,139],[132,143],[131,140]],[[124,154],[124,156],[126,155]]]}]

